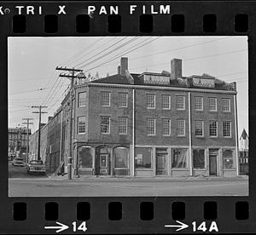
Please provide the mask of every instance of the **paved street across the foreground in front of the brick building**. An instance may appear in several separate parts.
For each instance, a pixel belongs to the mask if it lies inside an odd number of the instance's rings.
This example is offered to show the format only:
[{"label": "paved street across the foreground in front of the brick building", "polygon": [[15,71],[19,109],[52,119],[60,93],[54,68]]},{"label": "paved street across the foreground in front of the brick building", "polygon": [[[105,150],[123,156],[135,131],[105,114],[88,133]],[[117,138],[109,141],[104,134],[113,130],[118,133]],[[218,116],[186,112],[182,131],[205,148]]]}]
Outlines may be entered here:
[{"label": "paved street across the foreground in front of the brick building", "polygon": [[[9,197],[247,196],[247,177],[110,178],[26,175],[9,168]],[[15,172],[15,174],[14,174]],[[19,173],[17,173],[19,172]]]}]

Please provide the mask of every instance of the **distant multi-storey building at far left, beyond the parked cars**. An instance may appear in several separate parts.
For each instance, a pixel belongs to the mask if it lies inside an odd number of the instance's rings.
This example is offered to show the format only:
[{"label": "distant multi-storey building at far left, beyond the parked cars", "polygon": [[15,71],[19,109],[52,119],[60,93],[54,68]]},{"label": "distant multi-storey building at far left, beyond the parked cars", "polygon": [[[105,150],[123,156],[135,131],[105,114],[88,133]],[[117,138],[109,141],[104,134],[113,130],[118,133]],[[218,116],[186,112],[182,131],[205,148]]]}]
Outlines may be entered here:
[{"label": "distant multi-storey building at far left, beyond the parked cars", "polygon": [[[31,135],[31,129],[28,129],[28,135]],[[20,127],[8,129],[9,147],[8,156],[9,160],[15,157],[24,158],[26,161],[26,129]]]}]

